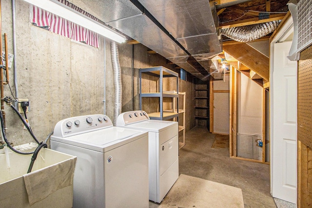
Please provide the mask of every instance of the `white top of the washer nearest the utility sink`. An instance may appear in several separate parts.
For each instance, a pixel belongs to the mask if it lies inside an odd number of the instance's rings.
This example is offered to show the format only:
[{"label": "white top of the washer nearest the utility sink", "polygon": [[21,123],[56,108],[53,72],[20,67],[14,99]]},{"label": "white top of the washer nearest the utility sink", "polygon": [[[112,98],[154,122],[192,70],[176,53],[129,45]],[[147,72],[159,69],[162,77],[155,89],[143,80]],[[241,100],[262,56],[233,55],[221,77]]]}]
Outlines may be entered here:
[{"label": "white top of the washer nearest the utility sink", "polygon": [[105,152],[147,135],[147,132],[111,127],[64,138],[51,136],[51,140]]}]

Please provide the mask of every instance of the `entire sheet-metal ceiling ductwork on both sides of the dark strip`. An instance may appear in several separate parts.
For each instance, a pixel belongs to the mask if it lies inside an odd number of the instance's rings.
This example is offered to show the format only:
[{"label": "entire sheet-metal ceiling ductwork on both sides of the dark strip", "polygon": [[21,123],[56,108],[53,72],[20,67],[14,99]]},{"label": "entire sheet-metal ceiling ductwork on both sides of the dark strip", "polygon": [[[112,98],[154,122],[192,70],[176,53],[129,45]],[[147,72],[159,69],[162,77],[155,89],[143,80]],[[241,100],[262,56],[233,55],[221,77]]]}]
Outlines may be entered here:
[{"label": "entire sheet-metal ceiling ductwork on both sides of the dark strip", "polygon": [[[91,6],[84,2],[87,10]],[[207,79],[210,69],[199,61],[222,52],[207,0],[103,0],[92,10],[98,19],[200,79]]]}]

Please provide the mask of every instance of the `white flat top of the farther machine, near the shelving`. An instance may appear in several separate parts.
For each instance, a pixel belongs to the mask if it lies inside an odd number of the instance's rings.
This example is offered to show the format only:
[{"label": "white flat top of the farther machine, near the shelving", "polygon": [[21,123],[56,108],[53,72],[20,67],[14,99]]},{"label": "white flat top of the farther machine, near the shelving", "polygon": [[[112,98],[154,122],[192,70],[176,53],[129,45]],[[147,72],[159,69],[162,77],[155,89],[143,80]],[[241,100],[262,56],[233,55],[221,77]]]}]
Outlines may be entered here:
[{"label": "white flat top of the farther machine, near the shelving", "polygon": [[129,124],[125,128],[134,128],[148,132],[161,132],[177,125],[176,121],[147,120],[134,124]]}]

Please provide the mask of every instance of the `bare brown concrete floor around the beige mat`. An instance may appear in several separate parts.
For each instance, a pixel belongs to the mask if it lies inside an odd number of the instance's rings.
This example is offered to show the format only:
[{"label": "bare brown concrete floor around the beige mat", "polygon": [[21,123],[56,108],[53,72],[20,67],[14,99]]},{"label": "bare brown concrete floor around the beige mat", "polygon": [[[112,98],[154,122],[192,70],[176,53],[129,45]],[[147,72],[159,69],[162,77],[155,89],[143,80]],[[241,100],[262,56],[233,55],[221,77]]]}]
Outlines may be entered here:
[{"label": "bare brown concrete floor around the beige mat", "polygon": [[[242,189],[245,208],[276,208],[270,194],[270,166],[230,158],[228,148],[211,148],[214,140],[215,134],[206,127],[187,132],[179,151],[179,174]],[[150,208],[158,206],[150,202]]]}]

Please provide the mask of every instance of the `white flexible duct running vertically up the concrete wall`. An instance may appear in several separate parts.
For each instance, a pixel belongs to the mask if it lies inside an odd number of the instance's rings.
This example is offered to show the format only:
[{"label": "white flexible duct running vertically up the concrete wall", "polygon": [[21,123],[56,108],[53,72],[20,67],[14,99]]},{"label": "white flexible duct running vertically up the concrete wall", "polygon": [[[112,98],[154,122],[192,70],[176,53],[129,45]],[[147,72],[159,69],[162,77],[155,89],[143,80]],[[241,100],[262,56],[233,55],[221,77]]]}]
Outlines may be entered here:
[{"label": "white flexible duct running vertically up the concrete wall", "polygon": [[116,126],[117,117],[121,113],[121,69],[118,57],[118,46],[115,41],[111,43],[111,54],[114,70],[115,103],[114,103],[114,121]]}]

